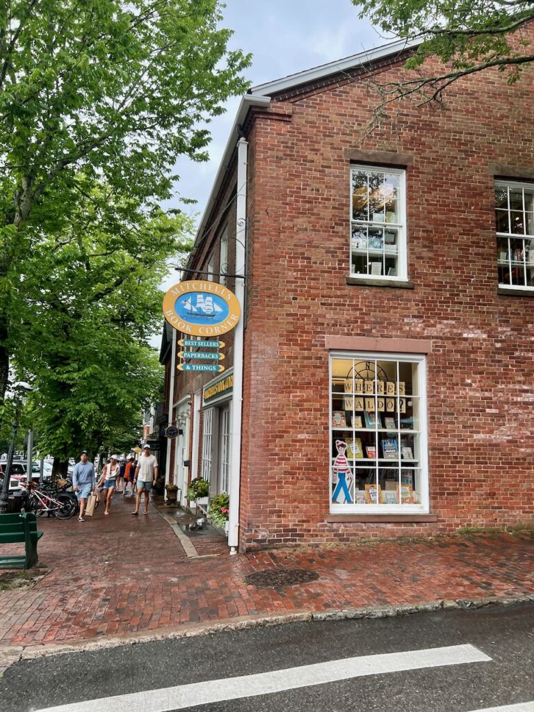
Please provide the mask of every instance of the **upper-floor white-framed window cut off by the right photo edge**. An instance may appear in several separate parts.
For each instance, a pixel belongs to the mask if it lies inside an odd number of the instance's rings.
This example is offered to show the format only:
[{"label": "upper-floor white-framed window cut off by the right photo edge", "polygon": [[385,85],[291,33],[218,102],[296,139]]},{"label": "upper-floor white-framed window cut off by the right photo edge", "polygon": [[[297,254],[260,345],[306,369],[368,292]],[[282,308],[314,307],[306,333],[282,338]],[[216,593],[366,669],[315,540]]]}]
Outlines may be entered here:
[{"label": "upper-floor white-framed window cut off by the right photo edge", "polygon": [[534,289],[534,184],[495,182],[500,287]]}]

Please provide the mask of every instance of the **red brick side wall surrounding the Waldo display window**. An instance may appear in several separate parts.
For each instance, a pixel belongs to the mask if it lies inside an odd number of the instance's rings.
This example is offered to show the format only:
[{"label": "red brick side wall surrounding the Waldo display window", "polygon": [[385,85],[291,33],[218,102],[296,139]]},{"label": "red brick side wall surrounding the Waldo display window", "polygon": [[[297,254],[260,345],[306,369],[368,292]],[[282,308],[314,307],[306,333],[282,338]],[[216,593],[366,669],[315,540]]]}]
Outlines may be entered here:
[{"label": "red brick side wall surrounding the Waldo display window", "polygon": [[[388,68],[380,80],[400,75]],[[497,293],[493,215],[493,166],[532,175],[533,85],[534,68],[516,85],[498,72],[473,75],[447,90],[441,110],[402,105],[395,122],[363,139],[377,100],[365,80],[287,98],[256,115],[248,137],[241,548],[533,520],[534,298]],[[343,151],[351,148],[412,156],[413,290],[346,283],[350,162]],[[431,340],[436,522],[326,522],[326,335]]]}]

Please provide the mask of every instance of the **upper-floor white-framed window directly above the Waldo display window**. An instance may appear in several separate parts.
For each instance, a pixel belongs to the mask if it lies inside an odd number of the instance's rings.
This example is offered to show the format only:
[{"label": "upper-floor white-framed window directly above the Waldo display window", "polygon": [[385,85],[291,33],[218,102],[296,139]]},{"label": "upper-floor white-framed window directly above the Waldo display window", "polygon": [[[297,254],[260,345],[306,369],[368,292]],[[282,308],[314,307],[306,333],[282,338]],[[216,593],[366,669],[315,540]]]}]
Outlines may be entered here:
[{"label": "upper-floor white-framed window directly above the Waldo display window", "polygon": [[350,276],[407,279],[404,169],[351,167]]}]

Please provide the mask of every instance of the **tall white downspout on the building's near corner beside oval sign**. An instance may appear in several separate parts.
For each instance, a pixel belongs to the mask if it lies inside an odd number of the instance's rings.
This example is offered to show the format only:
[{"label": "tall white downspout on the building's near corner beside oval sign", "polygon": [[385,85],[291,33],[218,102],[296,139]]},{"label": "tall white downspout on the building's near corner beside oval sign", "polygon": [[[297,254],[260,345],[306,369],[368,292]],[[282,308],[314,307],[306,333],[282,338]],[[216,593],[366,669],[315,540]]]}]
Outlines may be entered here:
[{"label": "tall white downspout on the building's near corner beside oval sign", "polygon": [[228,545],[236,554],[239,545],[239,490],[241,486],[241,422],[243,409],[243,342],[245,322],[246,270],[246,180],[248,142],[237,142],[237,201],[236,201],[236,277],[234,293],[241,306],[241,319],[234,329],[234,389],[231,408],[230,444],[230,505],[228,517]]}]

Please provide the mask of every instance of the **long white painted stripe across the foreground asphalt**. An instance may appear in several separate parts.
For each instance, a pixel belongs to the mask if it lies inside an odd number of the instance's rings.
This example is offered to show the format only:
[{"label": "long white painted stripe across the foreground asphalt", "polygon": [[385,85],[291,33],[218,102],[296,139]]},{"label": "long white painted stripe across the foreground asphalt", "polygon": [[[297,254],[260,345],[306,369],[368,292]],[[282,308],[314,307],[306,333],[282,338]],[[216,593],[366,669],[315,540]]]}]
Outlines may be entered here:
[{"label": "long white painted stripe across the foreground asphalt", "polygon": [[488,661],[491,661],[490,657],[469,644],[364,655],[255,675],[208,680],[70,703],[48,707],[43,712],[170,712],[201,704],[266,695],[367,675]]}]

